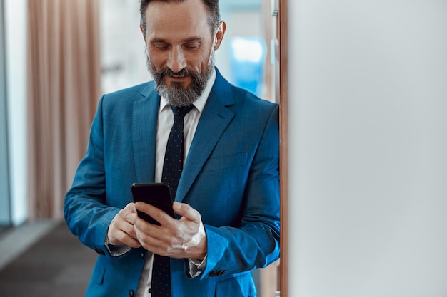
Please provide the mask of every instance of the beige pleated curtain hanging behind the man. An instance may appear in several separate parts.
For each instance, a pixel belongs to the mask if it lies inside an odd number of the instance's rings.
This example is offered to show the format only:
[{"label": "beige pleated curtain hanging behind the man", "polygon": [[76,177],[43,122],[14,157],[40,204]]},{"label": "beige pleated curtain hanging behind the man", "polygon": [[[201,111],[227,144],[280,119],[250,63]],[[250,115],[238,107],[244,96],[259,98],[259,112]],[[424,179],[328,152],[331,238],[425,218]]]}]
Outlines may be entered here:
[{"label": "beige pleated curtain hanging behind the man", "polygon": [[99,0],[29,0],[29,217],[61,218],[100,95]]}]

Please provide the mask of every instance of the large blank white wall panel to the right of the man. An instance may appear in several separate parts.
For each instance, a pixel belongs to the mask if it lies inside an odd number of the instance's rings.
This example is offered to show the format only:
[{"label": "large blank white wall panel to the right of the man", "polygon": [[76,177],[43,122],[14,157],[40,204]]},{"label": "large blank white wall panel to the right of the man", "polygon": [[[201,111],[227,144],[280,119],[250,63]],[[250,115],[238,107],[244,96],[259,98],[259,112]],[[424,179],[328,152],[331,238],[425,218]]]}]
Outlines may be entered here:
[{"label": "large blank white wall panel to the right of the man", "polygon": [[288,6],[289,296],[447,296],[447,1]]}]

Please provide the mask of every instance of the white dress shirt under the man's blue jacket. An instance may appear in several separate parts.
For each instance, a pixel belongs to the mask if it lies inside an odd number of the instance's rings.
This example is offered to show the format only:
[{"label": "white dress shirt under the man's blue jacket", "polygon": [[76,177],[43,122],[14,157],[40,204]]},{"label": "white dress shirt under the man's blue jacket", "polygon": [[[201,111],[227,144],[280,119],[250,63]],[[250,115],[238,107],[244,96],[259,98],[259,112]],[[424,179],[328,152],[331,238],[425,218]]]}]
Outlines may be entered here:
[{"label": "white dress shirt under the man's blue jacket", "polygon": [[[196,133],[197,125],[201,113],[203,112],[208,100],[211,88],[213,88],[214,81],[216,80],[216,71],[213,69],[213,73],[206,83],[206,87],[202,92],[202,95],[194,102],[194,108],[184,117],[184,161],[188,157],[189,147]],[[174,113],[172,113],[171,105],[169,105],[166,98],[161,98],[159,108],[159,118],[157,121],[157,137],[156,137],[156,165],[155,165],[155,182],[161,182],[161,174],[163,172],[164,153],[166,151],[166,145],[171,132],[171,127],[174,123]],[[148,251],[146,256],[146,263],[141,273],[138,289],[136,291],[136,297],[151,297],[149,289],[151,288],[152,279],[152,262],[154,261],[154,254]],[[190,274],[191,276],[198,276],[200,271],[206,265],[206,258],[202,263],[196,263],[194,260],[189,260]],[[194,267],[195,266],[195,267]]]}]

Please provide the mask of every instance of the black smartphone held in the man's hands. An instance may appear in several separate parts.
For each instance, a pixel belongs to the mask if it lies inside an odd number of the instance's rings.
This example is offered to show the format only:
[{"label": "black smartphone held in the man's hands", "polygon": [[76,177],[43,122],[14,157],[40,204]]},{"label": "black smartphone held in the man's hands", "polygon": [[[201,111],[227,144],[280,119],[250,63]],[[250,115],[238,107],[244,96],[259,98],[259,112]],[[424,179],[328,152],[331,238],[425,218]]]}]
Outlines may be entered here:
[{"label": "black smartphone held in the man's hands", "polygon": [[[132,196],[134,197],[134,202],[146,202],[147,204],[151,204],[154,207],[161,209],[171,217],[175,217],[174,210],[172,209],[171,189],[169,189],[168,184],[132,184],[131,191]],[[144,212],[138,212],[138,216],[151,224],[161,225],[149,216],[149,214],[145,214]]]}]

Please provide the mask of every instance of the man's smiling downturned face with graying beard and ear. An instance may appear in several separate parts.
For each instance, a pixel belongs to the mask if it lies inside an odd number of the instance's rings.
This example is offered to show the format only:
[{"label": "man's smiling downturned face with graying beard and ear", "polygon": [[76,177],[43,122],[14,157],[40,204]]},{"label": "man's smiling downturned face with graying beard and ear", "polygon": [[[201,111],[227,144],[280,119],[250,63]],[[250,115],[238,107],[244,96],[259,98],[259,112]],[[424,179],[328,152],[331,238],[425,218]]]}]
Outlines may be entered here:
[{"label": "man's smiling downturned face with graying beard and ear", "polygon": [[146,9],[148,68],[159,93],[172,105],[193,103],[214,66],[214,50],[224,36],[212,36],[202,0],[153,1]]}]

